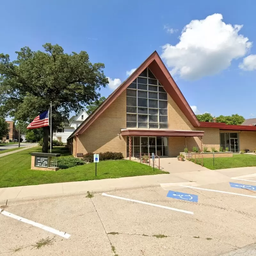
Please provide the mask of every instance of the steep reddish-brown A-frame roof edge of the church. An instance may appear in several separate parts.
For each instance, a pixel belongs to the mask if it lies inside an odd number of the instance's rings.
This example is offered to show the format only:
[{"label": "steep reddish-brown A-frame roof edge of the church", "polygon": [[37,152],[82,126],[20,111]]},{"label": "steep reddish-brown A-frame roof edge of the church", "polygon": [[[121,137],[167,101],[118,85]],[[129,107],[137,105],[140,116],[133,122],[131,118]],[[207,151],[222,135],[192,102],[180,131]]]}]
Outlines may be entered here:
[{"label": "steep reddish-brown A-frame roof edge of the church", "polygon": [[[184,113],[184,115],[188,118],[189,122],[194,127],[199,127],[200,123],[196,118],[193,110],[188,105],[187,100],[184,98],[183,94],[180,92],[179,87],[173,80],[169,71],[165,67],[163,61],[161,60],[158,53],[153,52],[147,60],[145,60],[139,68],[137,68],[131,76],[129,76],[119,87],[116,88],[114,92],[112,92],[108,98],[97,108],[95,109],[90,116],[88,116],[84,122],[69,136],[73,137],[76,134],[83,133],[100,115],[103,113],[105,109],[107,109],[110,104],[132,83],[132,81],[140,75],[140,73],[145,68],[150,68],[152,73],[156,76],[159,82],[164,86],[164,89],[175,103],[178,105],[180,110]],[[122,128],[122,127],[120,127]]]}]

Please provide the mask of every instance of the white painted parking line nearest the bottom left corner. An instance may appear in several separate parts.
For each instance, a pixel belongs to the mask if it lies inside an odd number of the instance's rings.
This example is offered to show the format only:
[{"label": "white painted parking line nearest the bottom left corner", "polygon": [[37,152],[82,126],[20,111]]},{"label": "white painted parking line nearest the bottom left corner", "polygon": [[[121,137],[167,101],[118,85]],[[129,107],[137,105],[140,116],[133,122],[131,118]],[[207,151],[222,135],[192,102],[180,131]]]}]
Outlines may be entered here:
[{"label": "white painted parking line nearest the bottom left corner", "polygon": [[[2,209],[0,209],[0,212],[1,211],[2,211]],[[44,226],[43,224],[37,223],[33,220],[28,220],[28,219],[22,218],[20,216],[17,216],[15,214],[12,214],[11,212],[2,211],[1,214],[5,215],[7,217],[11,217],[12,219],[19,220],[21,222],[30,224],[30,225],[35,226],[37,228],[44,229],[45,231],[51,232],[51,233],[53,233],[55,235],[58,235],[58,236],[62,236],[62,237],[67,238],[67,239],[70,237],[70,235],[67,234],[66,232],[62,232],[62,231],[59,231],[57,229]]]}]

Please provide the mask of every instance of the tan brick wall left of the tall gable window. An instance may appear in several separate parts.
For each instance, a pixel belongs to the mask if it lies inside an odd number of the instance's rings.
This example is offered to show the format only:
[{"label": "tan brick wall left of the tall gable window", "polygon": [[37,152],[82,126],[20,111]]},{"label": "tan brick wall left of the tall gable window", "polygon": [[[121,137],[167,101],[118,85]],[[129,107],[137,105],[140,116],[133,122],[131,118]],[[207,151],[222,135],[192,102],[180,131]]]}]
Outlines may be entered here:
[{"label": "tan brick wall left of the tall gable window", "polygon": [[[115,151],[126,157],[126,137],[117,135],[121,128],[126,128],[126,91],[83,134],[78,135],[77,153]],[[74,154],[75,144],[74,141]]]}]

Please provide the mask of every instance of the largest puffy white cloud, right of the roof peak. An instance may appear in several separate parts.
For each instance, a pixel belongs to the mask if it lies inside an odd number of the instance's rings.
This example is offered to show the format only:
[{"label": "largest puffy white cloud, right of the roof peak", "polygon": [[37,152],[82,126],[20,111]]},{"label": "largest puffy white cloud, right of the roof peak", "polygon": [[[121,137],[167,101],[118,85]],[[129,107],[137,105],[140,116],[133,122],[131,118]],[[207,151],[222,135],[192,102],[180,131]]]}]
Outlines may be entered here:
[{"label": "largest puffy white cloud, right of the roof peak", "polygon": [[232,26],[222,19],[215,13],[204,20],[191,20],[183,28],[178,44],[162,46],[161,57],[172,68],[172,74],[188,80],[214,75],[246,54],[252,42],[238,35],[243,26]]}]

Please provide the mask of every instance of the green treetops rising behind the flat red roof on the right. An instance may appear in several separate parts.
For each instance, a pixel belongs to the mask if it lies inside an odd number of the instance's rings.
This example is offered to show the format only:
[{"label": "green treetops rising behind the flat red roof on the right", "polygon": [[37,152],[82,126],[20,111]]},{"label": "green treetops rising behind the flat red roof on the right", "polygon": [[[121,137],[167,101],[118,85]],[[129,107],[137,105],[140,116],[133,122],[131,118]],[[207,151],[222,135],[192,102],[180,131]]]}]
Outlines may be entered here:
[{"label": "green treetops rising behind the flat red roof on the right", "polygon": [[[213,116],[210,113],[204,113],[202,115],[196,115],[197,119],[200,122],[212,122],[213,121]],[[235,124],[235,125],[240,125],[244,122],[244,117],[239,116],[238,114],[231,115],[231,116],[223,116],[220,115],[216,117],[216,122],[218,123],[226,123],[226,124]]]}]

